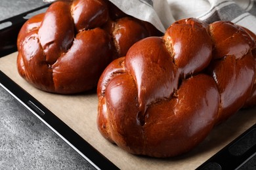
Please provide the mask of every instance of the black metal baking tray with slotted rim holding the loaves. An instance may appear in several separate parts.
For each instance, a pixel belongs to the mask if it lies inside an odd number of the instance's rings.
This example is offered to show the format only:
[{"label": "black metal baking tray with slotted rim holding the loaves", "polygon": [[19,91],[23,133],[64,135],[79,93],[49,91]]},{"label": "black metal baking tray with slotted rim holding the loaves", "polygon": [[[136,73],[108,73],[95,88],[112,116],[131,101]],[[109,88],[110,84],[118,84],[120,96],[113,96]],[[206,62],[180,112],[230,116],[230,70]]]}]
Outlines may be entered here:
[{"label": "black metal baking tray with slotted rim holding the loaves", "polygon": [[[24,16],[47,7],[49,7],[49,4],[0,22],[0,24],[11,22],[9,27],[0,30],[0,57],[16,52],[18,31],[27,20]],[[13,82],[2,71],[0,71],[0,84],[18,98],[23,105],[33,110],[33,114],[36,114],[47,126],[54,129],[55,133],[62,137],[62,139],[68,141],[68,144],[77,150],[83,158],[89,160],[96,169],[118,169],[114,163],[100,154],[93,146],[55,116],[53,112],[39,103],[39,101]],[[225,146],[209,160],[205,161],[198,169],[256,169],[255,155],[256,124],[247,129],[240,137]]]}]

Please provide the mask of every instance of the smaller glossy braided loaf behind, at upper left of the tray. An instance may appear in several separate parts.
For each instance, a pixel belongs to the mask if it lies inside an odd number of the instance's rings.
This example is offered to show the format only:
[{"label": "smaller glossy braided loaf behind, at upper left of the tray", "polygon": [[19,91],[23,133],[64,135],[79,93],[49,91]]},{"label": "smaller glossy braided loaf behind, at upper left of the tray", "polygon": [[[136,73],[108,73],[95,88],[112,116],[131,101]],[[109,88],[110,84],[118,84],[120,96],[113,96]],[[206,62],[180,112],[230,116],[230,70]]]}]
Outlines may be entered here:
[{"label": "smaller glossy braided loaf behind, at upper left of the tray", "polygon": [[109,1],[57,1],[20,30],[18,72],[47,92],[83,92],[96,87],[112,60],[151,35],[161,34]]}]

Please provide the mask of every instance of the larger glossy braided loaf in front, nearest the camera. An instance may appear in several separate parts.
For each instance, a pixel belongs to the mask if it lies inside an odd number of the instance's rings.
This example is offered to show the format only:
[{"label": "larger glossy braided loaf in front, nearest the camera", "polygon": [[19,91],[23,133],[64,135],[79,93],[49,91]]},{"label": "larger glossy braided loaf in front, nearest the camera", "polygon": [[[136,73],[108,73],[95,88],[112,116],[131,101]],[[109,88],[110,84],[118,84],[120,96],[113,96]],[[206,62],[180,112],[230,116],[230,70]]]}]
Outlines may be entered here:
[{"label": "larger glossy braided loaf in front, nearest the camera", "polygon": [[245,103],[255,105],[255,47],[238,25],[193,18],[136,42],[100,77],[98,130],[133,154],[188,152]]}]

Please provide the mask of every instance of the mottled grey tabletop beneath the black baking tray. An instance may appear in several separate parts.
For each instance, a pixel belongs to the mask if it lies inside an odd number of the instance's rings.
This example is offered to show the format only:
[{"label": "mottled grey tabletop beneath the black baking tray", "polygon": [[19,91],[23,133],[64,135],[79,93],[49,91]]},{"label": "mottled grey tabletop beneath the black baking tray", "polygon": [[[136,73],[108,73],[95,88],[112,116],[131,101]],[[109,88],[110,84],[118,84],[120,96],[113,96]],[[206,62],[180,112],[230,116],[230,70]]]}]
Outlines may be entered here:
[{"label": "mottled grey tabletop beneath the black baking tray", "polygon": [[[0,0],[0,20],[45,5]],[[0,86],[0,169],[95,169]]]}]

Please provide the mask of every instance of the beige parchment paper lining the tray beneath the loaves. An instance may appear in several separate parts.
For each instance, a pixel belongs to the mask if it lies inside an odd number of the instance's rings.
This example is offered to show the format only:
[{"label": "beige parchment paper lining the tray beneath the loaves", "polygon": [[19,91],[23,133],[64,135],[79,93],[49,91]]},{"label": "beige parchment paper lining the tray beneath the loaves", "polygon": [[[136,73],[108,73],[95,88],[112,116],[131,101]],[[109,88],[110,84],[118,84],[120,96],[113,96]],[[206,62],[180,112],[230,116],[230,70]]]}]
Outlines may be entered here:
[{"label": "beige parchment paper lining the tray beneath the loaves", "polygon": [[256,122],[256,108],[240,110],[223,124],[214,127],[208,137],[187,154],[167,159],[135,156],[109,143],[98,132],[96,93],[58,95],[37,90],[18,75],[16,56],[15,52],[0,58],[1,71],[33,95],[120,169],[196,169]]}]

